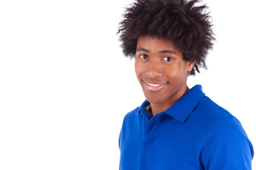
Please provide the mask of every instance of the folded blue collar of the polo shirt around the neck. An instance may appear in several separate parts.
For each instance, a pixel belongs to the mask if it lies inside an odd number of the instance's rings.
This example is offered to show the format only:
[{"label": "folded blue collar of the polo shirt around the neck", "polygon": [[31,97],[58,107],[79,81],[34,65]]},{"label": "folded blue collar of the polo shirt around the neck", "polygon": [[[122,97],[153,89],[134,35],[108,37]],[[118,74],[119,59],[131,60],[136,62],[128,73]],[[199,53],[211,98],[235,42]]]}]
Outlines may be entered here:
[{"label": "folded blue collar of the polo shirt around the neck", "polygon": [[[195,85],[189,91],[187,91],[174,105],[172,105],[163,113],[166,113],[180,122],[185,122],[189,117],[190,113],[194,110],[196,105],[205,96],[202,91],[201,85]],[[137,113],[140,114],[141,111],[148,111],[150,103],[145,100],[139,108]]]}]

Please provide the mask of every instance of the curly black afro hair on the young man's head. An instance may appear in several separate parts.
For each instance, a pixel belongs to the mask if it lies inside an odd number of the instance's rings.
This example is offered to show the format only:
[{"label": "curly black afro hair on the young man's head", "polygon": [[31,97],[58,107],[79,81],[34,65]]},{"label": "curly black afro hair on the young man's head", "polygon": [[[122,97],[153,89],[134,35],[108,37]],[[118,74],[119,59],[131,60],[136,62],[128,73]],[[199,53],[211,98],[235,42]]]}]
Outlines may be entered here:
[{"label": "curly black afro hair on the young man's head", "polygon": [[136,0],[125,7],[118,32],[125,57],[134,58],[140,36],[171,40],[183,52],[186,61],[195,65],[189,76],[205,68],[208,51],[213,48],[214,33],[210,12],[201,0]]}]

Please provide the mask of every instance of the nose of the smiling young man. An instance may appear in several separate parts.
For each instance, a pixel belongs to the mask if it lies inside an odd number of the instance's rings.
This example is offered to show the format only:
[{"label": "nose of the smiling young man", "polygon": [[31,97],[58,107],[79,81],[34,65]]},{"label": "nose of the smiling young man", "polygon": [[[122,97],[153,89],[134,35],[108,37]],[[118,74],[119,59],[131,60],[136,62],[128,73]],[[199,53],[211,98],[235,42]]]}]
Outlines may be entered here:
[{"label": "nose of the smiling young man", "polygon": [[163,71],[160,63],[150,60],[146,74],[152,79],[163,76]]}]

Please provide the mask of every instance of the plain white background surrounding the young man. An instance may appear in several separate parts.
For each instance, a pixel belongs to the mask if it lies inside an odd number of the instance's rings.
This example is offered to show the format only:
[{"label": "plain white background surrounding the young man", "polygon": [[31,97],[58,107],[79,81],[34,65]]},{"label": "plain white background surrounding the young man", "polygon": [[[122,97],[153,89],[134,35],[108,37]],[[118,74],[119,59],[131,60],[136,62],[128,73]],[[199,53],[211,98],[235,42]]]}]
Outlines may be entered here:
[{"label": "plain white background surrounding the young man", "polygon": [[[130,2],[0,1],[1,170],[118,169],[123,117],[144,101],[116,36]],[[205,2],[217,42],[188,85],[203,85],[256,148],[255,2]]]}]

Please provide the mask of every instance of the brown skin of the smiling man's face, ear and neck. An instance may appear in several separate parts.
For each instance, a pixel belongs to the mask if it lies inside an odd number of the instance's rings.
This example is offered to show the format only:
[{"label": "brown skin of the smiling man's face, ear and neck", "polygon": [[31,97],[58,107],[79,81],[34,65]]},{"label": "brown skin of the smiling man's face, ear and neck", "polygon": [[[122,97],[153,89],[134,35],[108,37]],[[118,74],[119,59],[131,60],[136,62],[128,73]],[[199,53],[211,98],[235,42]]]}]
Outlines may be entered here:
[{"label": "brown skin of the smiling man's face, ear and neck", "polygon": [[[135,54],[135,73],[150,102],[152,116],[170,108],[189,88],[188,72],[195,62],[183,59],[183,53],[171,41],[141,36]],[[150,91],[145,82],[164,84],[160,91]]]}]

